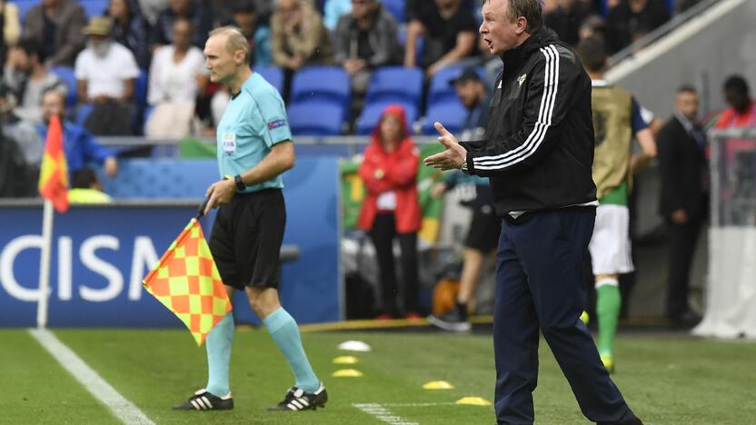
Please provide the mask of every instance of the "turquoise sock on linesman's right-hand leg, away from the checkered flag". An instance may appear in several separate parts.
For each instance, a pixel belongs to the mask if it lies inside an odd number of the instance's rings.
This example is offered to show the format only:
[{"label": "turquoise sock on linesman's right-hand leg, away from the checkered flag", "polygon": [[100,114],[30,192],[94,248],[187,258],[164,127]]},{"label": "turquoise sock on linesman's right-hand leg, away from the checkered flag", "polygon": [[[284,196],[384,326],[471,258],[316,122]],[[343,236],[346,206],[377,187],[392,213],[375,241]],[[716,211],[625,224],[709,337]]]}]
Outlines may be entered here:
[{"label": "turquoise sock on linesman's right-hand leg, away from the checkered flag", "polygon": [[320,381],[307,360],[302,346],[302,337],[299,336],[299,328],[294,318],[280,308],[272,312],[263,321],[268,333],[273,337],[275,345],[284,353],[286,361],[292,367],[294,373],[294,385],[305,392],[314,392],[320,387]]}]

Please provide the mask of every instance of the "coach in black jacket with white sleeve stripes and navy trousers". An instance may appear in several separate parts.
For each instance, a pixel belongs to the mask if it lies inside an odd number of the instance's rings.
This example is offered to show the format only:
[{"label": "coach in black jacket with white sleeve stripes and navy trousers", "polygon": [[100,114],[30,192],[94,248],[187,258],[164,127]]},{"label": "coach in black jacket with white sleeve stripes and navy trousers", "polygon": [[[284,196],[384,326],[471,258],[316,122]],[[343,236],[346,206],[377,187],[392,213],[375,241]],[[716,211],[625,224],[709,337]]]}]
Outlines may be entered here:
[{"label": "coach in black jacket with white sleeve stripes and navy trousers", "polygon": [[425,164],[490,177],[503,218],[493,316],[496,419],[534,420],[540,328],[586,418],[640,424],[580,320],[598,204],[591,80],[570,47],[542,27],[538,0],[486,0],[482,17],[482,38],[504,64],[485,140],[458,143],[436,123],[446,150]]}]

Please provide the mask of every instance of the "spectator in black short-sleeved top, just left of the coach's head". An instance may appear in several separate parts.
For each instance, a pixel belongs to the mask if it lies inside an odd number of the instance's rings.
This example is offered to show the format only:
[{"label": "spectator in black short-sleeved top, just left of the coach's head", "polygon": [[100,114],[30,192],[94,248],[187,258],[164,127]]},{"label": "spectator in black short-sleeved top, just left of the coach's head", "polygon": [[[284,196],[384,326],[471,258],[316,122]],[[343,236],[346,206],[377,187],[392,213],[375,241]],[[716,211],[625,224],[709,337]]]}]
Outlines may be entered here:
[{"label": "spectator in black short-sleeved top, just left of the coach's head", "polygon": [[416,66],[415,42],[425,37],[423,61],[420,66],[433,76],[444,66],[476,53],[478,25],[462,0],[435,0],[417,3],[419,9],[407,27],[404,65]]}]

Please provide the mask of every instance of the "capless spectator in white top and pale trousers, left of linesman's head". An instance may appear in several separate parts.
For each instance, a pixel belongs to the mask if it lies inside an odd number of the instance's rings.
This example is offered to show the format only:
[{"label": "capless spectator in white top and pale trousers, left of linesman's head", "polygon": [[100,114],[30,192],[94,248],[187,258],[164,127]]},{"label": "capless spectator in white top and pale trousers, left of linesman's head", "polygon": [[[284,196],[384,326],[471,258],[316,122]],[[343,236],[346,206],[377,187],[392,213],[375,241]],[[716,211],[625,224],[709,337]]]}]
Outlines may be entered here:
[{"label": "capless spectator in white top and pale trousers, left of linesman's head", "polygon": [[192,45],[192,22],[174,21],[174,43],[154,51],[147,103],[154,111],[145,135],[180,139],[192,133],[194,102],[204,94],[207,70],[202,50]]}]

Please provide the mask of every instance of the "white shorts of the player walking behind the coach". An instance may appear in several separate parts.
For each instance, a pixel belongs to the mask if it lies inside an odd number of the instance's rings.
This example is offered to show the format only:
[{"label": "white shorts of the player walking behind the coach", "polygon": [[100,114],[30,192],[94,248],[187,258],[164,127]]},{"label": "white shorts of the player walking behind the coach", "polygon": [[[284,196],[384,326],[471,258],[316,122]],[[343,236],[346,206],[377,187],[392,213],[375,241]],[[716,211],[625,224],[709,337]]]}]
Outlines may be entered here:
[{"label": "white shorts of the player walking behind the coach", "polygon": [[605,204],[596,208],[596,225],[588,245],[594,275],[633,271],[629,226],[626,206]]}]

